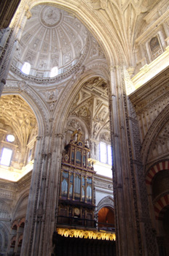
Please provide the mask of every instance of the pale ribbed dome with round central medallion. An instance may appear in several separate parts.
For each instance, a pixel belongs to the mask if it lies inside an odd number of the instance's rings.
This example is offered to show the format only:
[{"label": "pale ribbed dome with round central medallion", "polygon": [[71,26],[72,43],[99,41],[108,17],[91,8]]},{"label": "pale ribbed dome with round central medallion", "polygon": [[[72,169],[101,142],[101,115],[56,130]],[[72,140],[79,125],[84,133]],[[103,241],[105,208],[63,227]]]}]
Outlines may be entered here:
[{"label": "pale ribbed dome with round central medallion", "polygon": [[87,29],[68,12],[50,5],[38,5],[31,14],[14,66],[21,69],[26,61],[31,64],[30,75],[39,78],[50,77],[52,67],[58,67],[58,74],[67,72],[83,56]]}]

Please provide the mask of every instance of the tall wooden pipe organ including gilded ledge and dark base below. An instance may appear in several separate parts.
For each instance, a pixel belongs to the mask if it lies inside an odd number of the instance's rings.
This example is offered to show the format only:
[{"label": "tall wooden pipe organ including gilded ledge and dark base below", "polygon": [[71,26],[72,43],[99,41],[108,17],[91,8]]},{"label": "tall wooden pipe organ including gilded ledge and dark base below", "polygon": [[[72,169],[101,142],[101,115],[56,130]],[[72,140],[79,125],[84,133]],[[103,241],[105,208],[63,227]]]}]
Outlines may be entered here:
[{"label": "tall wooden pipe organ including gilded ledge and dark base below", "polygon": [[98,231],[90,148],[76,130],[63,151],[52,256],[115,256],[115,233]]}]

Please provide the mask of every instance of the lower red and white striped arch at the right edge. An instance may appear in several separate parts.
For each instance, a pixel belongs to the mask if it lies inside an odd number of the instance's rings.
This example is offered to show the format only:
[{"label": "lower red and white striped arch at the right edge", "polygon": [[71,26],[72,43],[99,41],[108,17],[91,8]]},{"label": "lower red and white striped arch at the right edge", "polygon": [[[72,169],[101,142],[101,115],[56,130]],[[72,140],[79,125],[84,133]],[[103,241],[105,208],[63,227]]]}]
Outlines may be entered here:
[{"label": "lower red and white striped arch at the right edge", "polygon": [[169,206],[169,195],[164,195],[154,204],[155,219],[163,219],[166,206]]}]

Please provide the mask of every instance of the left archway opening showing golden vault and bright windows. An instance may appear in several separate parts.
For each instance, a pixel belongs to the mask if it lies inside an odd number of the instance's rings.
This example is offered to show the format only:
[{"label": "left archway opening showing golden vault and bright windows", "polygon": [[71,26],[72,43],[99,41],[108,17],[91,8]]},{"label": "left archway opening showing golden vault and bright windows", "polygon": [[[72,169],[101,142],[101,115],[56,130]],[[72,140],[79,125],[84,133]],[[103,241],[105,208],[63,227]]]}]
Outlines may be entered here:
[{"label": "left archway opening showing golden vault and bright windows", "polygon": [[36,117],[20,96],[3,95],[0,121],[0,178],[18,181],[33,169]]}]

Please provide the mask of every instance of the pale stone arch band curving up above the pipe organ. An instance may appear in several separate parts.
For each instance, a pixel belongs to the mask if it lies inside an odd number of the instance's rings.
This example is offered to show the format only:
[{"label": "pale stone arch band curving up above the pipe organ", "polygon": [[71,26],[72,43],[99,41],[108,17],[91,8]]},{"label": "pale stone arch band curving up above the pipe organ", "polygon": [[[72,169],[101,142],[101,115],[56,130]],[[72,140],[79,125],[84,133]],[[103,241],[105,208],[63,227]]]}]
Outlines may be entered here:
[{"label": "pale stone arch band curving up above the pipe organ", "polygon": [[[65,128],[66,121],[68,119],[68,111],[71,107],[71,103],[74,100],[74,97],[79,92],[79,90],[82,89],[82,86],[85,82],[87,82],[87,80],[90,80],[90,78],[95,78],[97,76],[101,77],[101,75],[99,75],[98,73],[95,74],[92,71],[90,71],[90,73],[87,73],[83,78],[81,78],[80,81],[78,80],[79,77],[77,77],[77,79],[75,78],[75,80],[71,80],[65,87],[58,102],[59,107],[56,108],[55,113],[53,115],[55,116],[55,120],[53,122],[55,133],[63,133],[63,129]],[[58,120],[60,120],[60,122],[58,122],[57,125]]]}]

